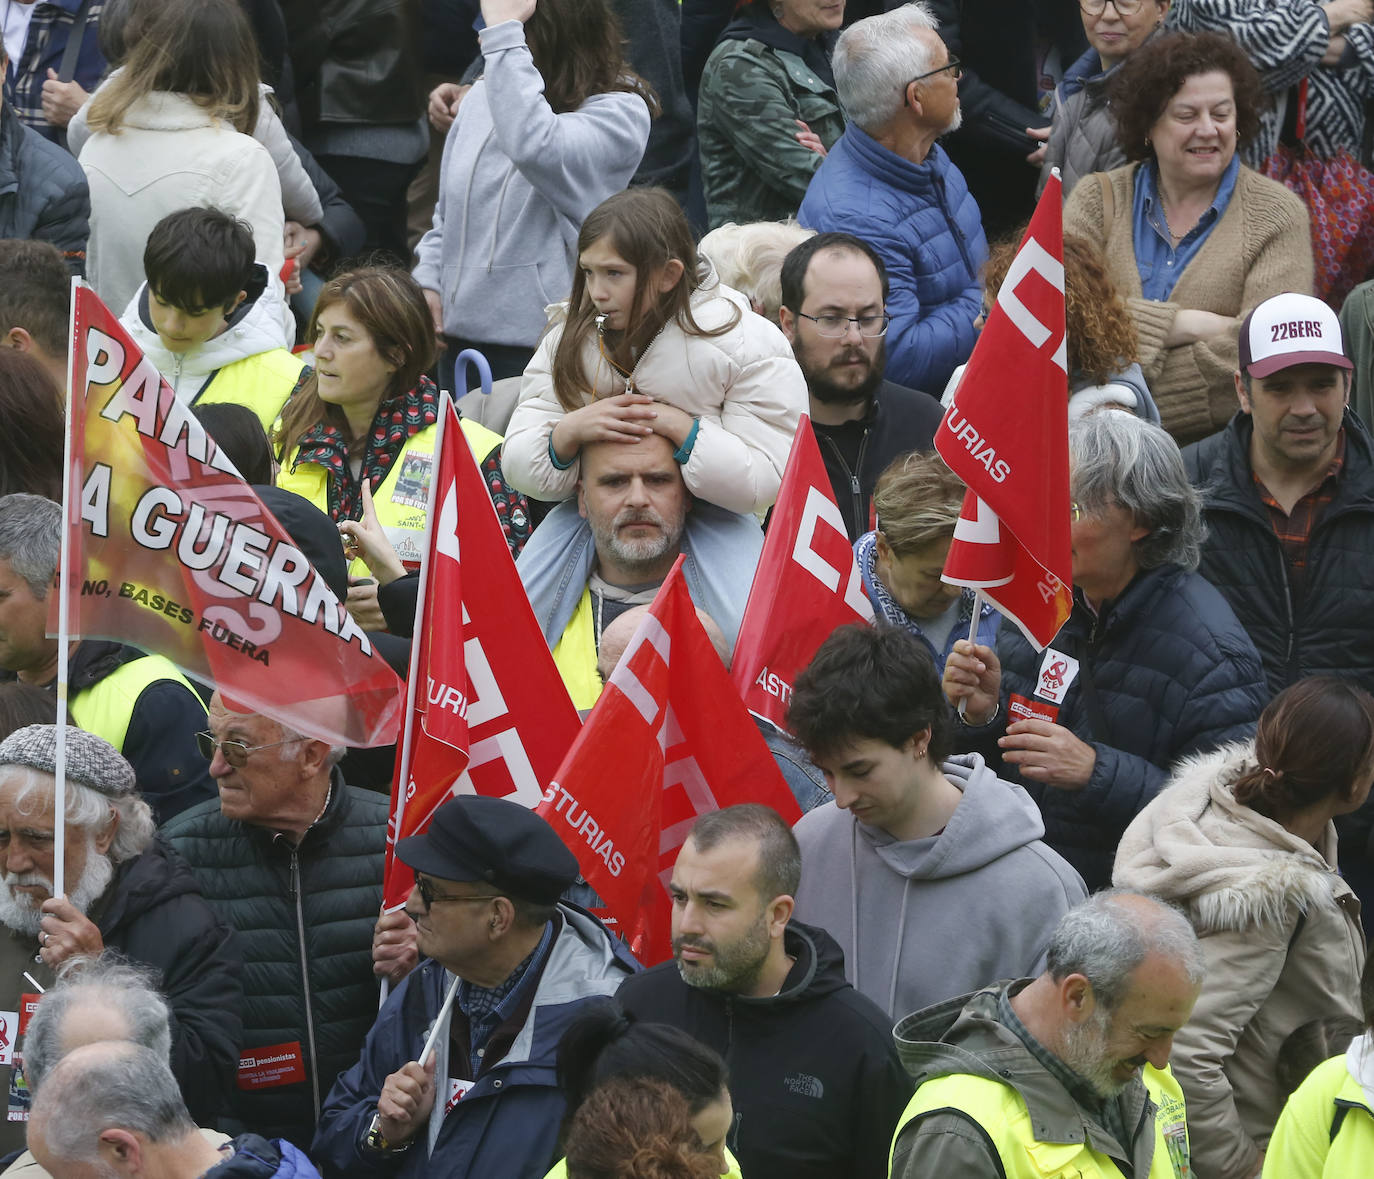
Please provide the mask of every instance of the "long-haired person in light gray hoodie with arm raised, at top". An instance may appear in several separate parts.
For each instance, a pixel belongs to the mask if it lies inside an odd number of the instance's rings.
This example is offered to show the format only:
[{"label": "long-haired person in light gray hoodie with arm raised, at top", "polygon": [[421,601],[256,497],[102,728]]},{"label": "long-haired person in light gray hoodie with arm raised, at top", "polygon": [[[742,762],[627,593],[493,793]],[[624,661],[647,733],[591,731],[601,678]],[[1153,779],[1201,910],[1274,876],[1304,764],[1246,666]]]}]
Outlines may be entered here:
[{"label": "long-haired person in light gray hoodie with arm raised, at top", "polygon": [[658,113],[606,0],[482,0],[482,77],[449,129],[434,228],[415,250],[445,388],[464,348],[493,377],[525,368],[545,306],[576,279],[578,225],[629,183]]}]

